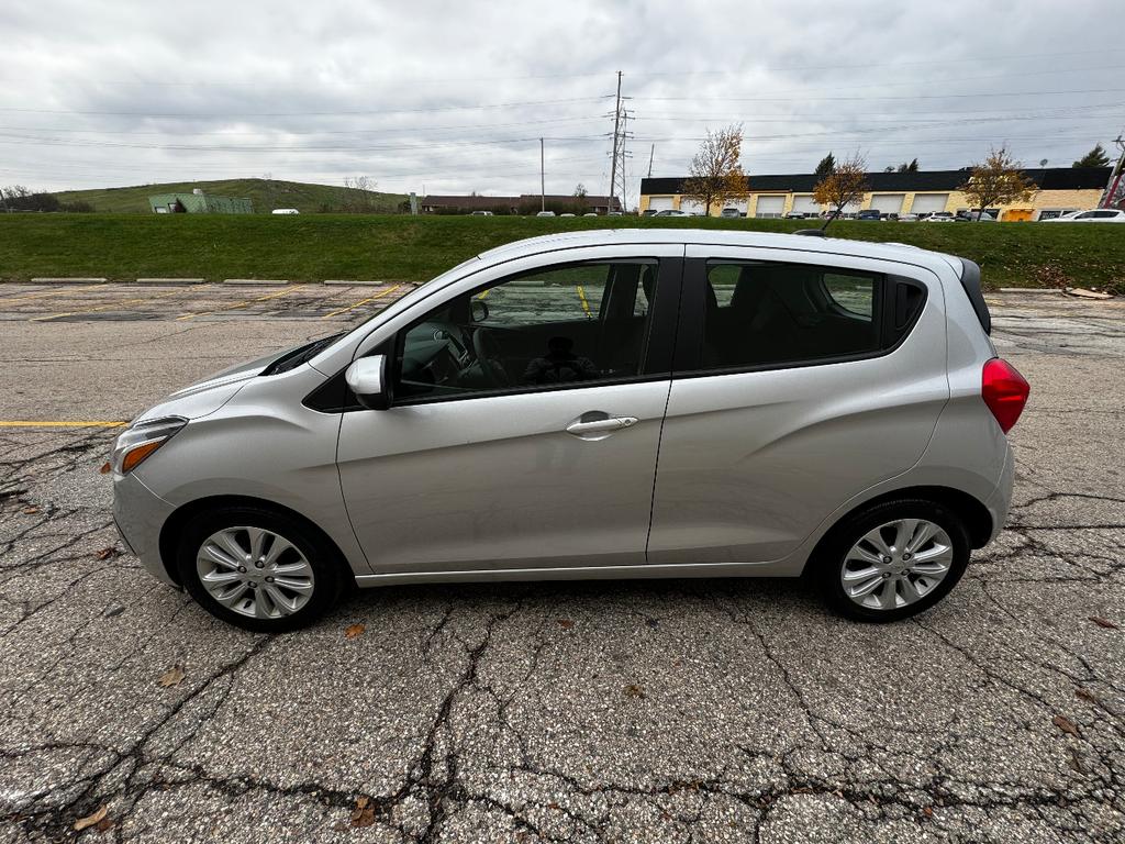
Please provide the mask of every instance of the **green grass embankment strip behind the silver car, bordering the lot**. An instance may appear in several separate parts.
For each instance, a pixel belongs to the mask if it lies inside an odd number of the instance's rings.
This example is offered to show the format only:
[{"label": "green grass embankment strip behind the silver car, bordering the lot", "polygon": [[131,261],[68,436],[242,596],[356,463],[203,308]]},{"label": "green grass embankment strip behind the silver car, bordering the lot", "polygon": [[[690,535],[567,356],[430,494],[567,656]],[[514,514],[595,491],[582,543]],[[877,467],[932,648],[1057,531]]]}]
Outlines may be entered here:
[{"label": "green grass embankment strip behind the silver car, bordering the lot", "polygon": [[[789,232],[800,221],[377,215],[0,215],[0,278],[147,276],[423,281],[492,246],[559,231],[706,227]],[[1125,226],[834,223],[837,237],[971,258],[990,287],[1069,280],[1125,293]]]}]

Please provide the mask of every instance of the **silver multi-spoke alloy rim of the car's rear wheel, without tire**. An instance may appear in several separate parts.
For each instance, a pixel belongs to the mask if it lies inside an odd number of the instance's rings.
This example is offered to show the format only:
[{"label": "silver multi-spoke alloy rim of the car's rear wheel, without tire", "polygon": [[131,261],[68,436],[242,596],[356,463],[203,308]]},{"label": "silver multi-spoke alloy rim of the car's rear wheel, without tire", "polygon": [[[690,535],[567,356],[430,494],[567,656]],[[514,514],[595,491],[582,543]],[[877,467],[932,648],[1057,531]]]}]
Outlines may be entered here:
[{"label": "silver multi-spoke alloy rim of the car's rear wheel, without tire", "polygon": [[945,580],[953,542],[925,519],[899,519],[864,533],[840,568],[844,594],[872,610],[894,610],[921,600]]}]

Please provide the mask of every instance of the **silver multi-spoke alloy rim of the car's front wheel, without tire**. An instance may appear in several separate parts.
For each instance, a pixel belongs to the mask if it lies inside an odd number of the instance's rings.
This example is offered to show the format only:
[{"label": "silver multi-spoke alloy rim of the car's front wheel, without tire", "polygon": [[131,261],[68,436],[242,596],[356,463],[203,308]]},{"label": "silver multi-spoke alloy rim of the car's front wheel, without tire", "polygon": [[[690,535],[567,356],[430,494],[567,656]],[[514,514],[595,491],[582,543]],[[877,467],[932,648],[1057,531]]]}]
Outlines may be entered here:
[{"label": "silver multi-spoke alloy rim of the car's front wheel, without tire", "polygon": [[313,567],[300,549],[264,528],[212,533],[196,554],[196,572],[220,605],[255,619],[291,616],[315,589]]}]

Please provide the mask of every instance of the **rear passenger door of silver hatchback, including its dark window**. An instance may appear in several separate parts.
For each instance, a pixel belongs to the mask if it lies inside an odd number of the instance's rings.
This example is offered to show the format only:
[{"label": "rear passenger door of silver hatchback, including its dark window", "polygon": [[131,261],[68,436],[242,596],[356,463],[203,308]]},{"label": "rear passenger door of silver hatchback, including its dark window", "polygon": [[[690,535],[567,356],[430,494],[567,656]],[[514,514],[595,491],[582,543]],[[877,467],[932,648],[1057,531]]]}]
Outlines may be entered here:
[{"label": "rear passenger door of silver hatchback, including its dark window", "polygon": [[948,398],[928,270],[688,246],[650,565],[778,560],[912,466]]}]

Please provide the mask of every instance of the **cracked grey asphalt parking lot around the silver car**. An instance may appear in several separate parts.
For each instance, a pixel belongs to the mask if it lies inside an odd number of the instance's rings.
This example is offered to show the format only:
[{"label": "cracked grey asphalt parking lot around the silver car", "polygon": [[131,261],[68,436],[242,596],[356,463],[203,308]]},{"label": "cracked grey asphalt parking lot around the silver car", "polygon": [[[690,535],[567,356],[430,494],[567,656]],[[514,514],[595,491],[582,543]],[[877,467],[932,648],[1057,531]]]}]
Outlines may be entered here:
[{"label": "cracked grey asphalt parking lot around the silver car", "polygon": [[0,286],[0,842],[1125,839],[1125,303],[990,298],[1016,506],[914,621],[597,582],[259,636],[141,571],[108,423],[405,289]]}]

